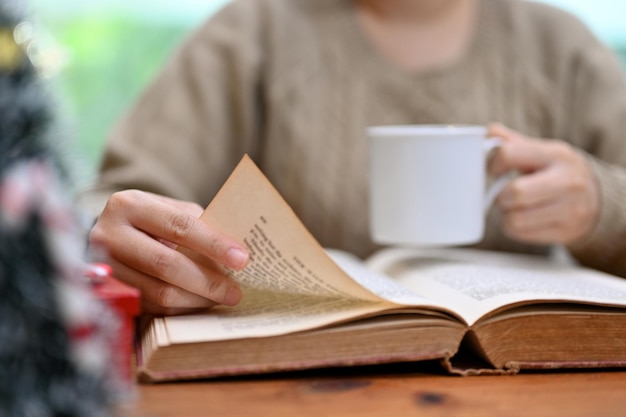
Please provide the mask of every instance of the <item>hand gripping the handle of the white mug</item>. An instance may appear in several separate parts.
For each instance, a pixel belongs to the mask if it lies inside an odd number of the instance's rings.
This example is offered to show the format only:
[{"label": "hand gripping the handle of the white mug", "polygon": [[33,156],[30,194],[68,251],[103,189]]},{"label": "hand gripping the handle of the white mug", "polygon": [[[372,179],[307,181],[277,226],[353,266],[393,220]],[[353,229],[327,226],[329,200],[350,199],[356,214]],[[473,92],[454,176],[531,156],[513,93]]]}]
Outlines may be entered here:
[{"label": "hand gripping the handle of the white mug", "polygon": [[563,141],[529,138],[501,125],[490,126],[488,136],[503,142],[489,172],[521,174],[496,200],[505,233],[519,241],[563,245],[591,233],[600,212],[600,192],[582,153]]}]

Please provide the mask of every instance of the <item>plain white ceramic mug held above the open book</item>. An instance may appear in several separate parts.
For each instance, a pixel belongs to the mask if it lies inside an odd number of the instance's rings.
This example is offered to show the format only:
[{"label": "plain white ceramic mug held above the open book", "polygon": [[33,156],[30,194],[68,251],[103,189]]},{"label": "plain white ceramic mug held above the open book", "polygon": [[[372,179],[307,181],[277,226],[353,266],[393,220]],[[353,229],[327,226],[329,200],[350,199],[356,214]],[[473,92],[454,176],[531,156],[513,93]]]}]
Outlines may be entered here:
[{"label": "plain white ceramic mug held above the open book", "polygon": [[370,233],[381,244],[453,246],[483,238],[486,211],[510,176],[487,188],[487,156],[499,145],[475,125],[367,129]]}]

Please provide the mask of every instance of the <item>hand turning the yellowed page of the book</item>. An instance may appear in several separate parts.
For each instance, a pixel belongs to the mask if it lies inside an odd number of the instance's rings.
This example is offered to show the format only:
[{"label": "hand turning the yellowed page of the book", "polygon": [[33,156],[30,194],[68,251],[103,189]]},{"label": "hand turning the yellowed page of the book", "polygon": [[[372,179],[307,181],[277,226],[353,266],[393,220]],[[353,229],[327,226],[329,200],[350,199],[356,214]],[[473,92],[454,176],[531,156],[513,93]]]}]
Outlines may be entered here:
[{"label": "hand turning the yellowed page of the book", "polygon": [[[241,300],[222,267],[242,269],[249,255],[198,219],[202,208],[137,190],[113,194],[89,235],[115,276],[141,291],[150,314],[179,314]],[[195,252],[190,257],[177,247]]]}]

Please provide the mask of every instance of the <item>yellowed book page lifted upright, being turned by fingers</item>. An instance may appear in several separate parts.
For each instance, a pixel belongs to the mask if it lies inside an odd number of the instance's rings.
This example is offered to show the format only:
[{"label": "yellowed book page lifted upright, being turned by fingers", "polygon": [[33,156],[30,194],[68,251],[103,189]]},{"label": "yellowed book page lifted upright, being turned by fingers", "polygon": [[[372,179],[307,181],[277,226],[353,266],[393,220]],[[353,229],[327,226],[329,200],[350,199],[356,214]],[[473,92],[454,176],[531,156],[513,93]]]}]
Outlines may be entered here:
[{"label": "yellowed book page lifted upright, being turned by fingers", "polygon": [[245,243],[250,263],[229,271],[244,286],[380,301],[330,259],[274,186],[244,156],[200,219]]}]

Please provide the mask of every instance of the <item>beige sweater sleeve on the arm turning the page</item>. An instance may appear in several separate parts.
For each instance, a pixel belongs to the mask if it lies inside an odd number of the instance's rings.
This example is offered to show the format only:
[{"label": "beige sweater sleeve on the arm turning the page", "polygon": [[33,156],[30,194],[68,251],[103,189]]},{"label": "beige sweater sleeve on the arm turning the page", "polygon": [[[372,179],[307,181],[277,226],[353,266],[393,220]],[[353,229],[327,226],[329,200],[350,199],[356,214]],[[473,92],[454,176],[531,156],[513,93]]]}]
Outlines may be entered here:
[{"label": "beige sweater sleeve on the arm turning the page", "polygon": [[198,28],[113,130],[79,203],[97,216],[136,188],[208,204],[259,131],[262,33],[255,2],[234,1]]}]

